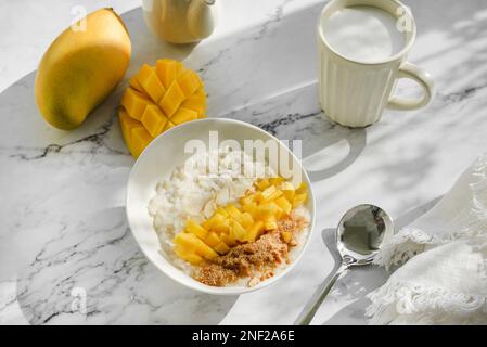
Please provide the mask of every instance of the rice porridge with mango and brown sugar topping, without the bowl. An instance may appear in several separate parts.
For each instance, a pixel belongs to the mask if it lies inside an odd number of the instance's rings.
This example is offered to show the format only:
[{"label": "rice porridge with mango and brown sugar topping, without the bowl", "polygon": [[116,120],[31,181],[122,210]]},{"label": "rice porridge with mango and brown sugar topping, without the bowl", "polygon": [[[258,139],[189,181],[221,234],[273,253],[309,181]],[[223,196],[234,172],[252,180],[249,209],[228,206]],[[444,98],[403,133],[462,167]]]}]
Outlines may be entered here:
[{"label": "rice porridge with mango and brown sugar topping, without the bowl", "polygon": [[213,286],[248,285],[291,264],[309,232],[307,187],[241,151],[194,155],[156,185],[161,253]]}]

